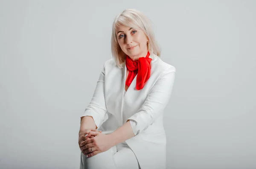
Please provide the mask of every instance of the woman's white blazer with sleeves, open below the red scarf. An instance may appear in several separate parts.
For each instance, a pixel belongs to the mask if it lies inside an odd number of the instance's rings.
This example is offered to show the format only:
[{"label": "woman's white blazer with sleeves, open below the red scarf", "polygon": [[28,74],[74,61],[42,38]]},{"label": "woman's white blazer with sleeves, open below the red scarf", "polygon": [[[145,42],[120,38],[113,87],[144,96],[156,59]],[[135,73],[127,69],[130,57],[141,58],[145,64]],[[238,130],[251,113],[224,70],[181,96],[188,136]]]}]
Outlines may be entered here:
[{"label": "woman's white blazer with sleeves, open below the red scarf", "polygon": [[136,155],[140,168],[166,169],[163,110],[172,93],[175,67],[155,54],[149,57],[152,58],[150,78],[143,89],[137,90],[136,76],[125,96],[125,63],[124,68],[119,68],[113,59],[107,60],[83,116],[92,116],[102,131],[114,131],[128,119],[134,120],[139,132],[125,142]]}]

